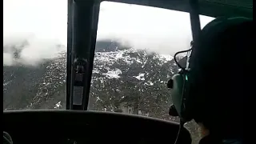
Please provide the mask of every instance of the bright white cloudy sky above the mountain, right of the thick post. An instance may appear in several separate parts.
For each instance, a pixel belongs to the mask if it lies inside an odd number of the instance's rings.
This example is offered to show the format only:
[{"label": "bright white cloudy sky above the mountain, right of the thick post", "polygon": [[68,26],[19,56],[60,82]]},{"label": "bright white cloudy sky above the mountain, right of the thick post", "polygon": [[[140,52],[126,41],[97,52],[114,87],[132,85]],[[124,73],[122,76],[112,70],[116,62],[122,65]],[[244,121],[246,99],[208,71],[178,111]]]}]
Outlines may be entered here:
[{"label": "bright white cloudy sky above the mountain, right of the thick post", "polygon": [[[134,48],[174,54],[190,48],[190,14],[150,6],[102,2],[98,39],[118,39]],[[201,16],[202,26],[213,18]]]}]

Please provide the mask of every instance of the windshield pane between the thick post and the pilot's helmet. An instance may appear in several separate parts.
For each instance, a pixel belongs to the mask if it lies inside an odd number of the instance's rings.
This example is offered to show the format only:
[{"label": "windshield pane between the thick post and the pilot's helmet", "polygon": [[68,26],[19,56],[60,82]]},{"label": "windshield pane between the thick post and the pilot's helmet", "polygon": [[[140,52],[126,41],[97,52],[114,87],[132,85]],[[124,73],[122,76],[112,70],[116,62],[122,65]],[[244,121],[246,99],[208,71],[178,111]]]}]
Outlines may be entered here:
[{"label": "windshield pane between the thick post and the pilot's helmet", "polygon": [[[202,26],[213,18],[201,16]],[[89,110],[139,114],[178,122],[166,82],[178,72],[174,53],[190,48],[188,13],[102,2]],[[182,57],[181,57],[182,58]],[[194,142],[198,126],[189,122]]]}]

